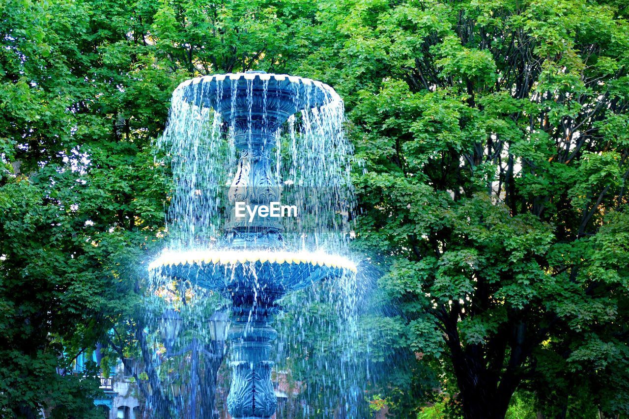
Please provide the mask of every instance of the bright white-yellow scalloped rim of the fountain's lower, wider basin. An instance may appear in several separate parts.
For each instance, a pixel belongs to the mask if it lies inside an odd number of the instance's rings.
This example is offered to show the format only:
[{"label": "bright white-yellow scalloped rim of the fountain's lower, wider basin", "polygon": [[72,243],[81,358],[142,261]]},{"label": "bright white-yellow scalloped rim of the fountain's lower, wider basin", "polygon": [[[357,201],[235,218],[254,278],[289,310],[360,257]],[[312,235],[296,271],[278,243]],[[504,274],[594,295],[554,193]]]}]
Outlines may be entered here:
[{"label": "bright white-yellow scalloped rim of the fountain's lower, wider basin", "polygon": [[345,257],[311,252],[273,252],[256,250],[188,250],[164,252],[148,269],[165,266],[213,264],[233,266],[255,262],[270,264],[310,264],[356,272],[356,265]]}]

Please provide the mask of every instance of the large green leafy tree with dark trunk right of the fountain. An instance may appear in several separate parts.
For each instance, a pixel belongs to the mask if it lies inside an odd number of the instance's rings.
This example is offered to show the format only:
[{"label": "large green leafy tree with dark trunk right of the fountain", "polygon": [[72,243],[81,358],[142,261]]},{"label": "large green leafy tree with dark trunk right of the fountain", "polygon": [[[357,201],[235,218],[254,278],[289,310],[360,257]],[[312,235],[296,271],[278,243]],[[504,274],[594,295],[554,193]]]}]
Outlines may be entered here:
[{"label": "large green leafy tree with dark trunk right of the fountain", "polygon": [[577,381],[626,412],[623,386],[599,386],[627,374],[623,9],[347,6],[338,71],[359,89],[350,132],[367,167],[357,235],[397,259],[380,283],[409,346],[447,355],[466,417],[502,417],[515,389],[542,383],[565,415]]}]

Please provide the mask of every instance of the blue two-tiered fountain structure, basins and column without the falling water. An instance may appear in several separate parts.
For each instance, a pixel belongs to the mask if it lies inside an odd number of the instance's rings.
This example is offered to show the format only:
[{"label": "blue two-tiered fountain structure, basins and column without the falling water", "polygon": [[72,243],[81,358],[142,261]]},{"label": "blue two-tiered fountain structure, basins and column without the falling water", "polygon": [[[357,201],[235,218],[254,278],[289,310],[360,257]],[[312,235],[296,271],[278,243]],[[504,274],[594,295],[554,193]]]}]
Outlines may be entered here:
[{"label": "blue two-tiered fountain structure, basins and column without the falling water", "polygon": [[[229,127],[239,157],[228,191],[226,206],[231,210],[222,237],[203,250],[171,250],[150,269],[231,299],[228,339],[233,378],[228,410],[234,418],[269,418],[277,406],[270,361],[271,342],[277,337],[270,321],[279,310],[277,299],[326,277],[351,274],[355,265],[338,255],[292,251],[296,247],[287,243],[283,220],[259,214],[238,217],[234,208],[238,202],[254,206],[281,201],[277,148],[282,124],[298,112],[304,118],[325,115],[330,109],[336,112],[342,102],[321,82],[264,72],[199,77],[182,83],[175,96],[189,106],[214,109],[220,125]],[[316,137],[316,133],[310,135]],[[186,193],[194,196],[197,191]]]}]

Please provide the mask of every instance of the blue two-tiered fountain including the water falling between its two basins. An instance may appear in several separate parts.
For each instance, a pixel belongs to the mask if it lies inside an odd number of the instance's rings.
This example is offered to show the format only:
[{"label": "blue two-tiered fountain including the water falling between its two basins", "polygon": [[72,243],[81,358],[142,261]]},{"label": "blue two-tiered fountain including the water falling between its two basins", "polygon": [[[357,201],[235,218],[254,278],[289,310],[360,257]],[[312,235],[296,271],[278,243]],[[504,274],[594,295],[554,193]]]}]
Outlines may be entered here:
[{"label": "blue two-tiered fountain including the water falling between its two basins", "polygon": [[[330,86],[318,81],[247,72],[186,81],[175,90],[173,103],[186,111],[195,109],[196,120],[213,109],[209,142],[214,148],[204,154],[196,146],[179,143],[173,147],[179,189],[175,187],[170,228],[173,235],[177,229],[183,233],[176,249],[165,251],[150,271],[189,281],[231,300],[228,340],[233,375],[228,410],[234,418],[269,418],[277,406],[270,360],[277,337],[270,322],[280,310],[277,300],[326,278],[351,276],[356,270],[350,260],[322,250],[335,249],[338,254],[338,243],[343,243],[347,233],[343,225],[347,225],[348,199],[339,192],[350,187],[349,148],[340,126],[342,101]],[[295,140],[296,113],[304,127],[298,135],[301,142]],[[193,120],[171,126],[170,137],[189,135]],[[283,178],[281,129],[287,121],[293,164]],[[176,124],[177,116],[171,113],[169,125]],[[197,128],[196,133],[201,135],[201,131]],[[228,167],[231,159],[223,158],[225,173],[233,180],[222,203],[221,181],[208,186],[209,178],[200,180],[220,165],[217,150],[225,145],[218,140],[221,132],[228,133],[227,148],[238,154],[233,159],[235,170]],[[181,152],[177,147],[192,151]],[[299,154],[308,155],[308,161],[299,160]],[[213,165],[208,165],[208,159]],[[203,170],[191,170],[192,166]],[[294,219],[264,211],[243,216],[237,211],[239,205],[269,208],[281,201],[283,187],[294,185],[304,188],[295,195],[295,212],[298,207],[303,212]],[[216,227],[219,224],[222,228]],[[292,226],[290,231],[287,225]]]}]

